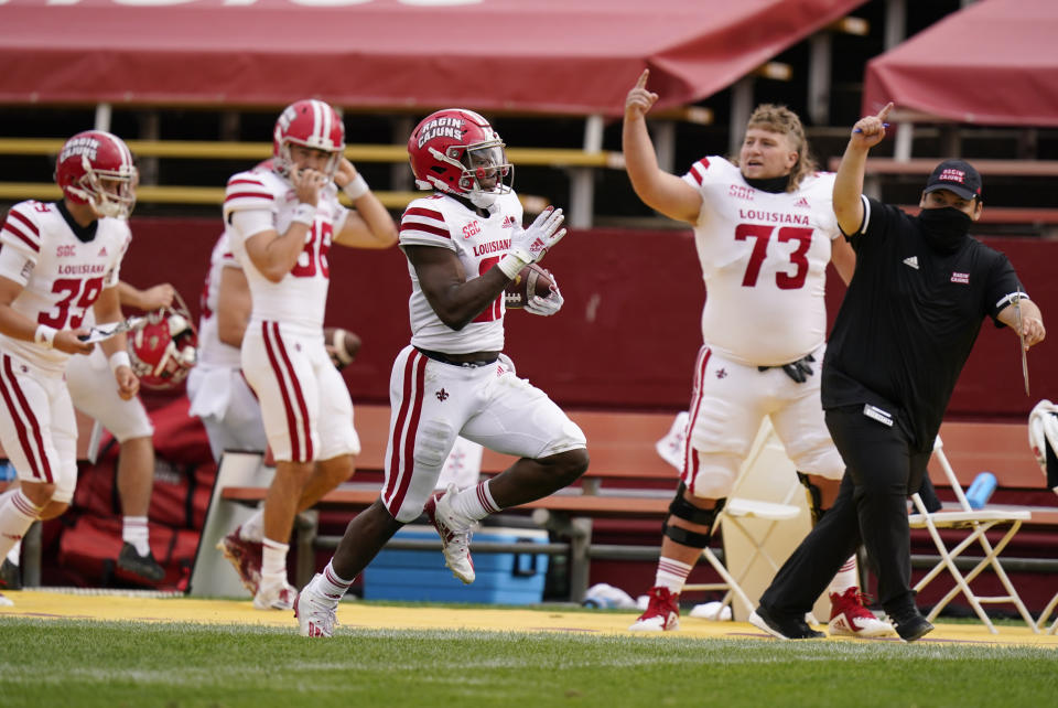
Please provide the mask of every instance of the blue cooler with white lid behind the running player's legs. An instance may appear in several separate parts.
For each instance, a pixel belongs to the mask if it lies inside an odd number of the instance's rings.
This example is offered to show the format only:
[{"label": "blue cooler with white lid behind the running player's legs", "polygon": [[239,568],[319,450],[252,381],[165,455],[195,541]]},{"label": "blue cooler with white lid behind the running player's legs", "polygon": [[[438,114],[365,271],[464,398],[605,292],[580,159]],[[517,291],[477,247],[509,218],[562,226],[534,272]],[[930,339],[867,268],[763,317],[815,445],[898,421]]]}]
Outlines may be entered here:
[{"label": "blue cooler with white lid behind the running player's legs", "polygon": [[[432,526],[404,526],[393,538],[435,539],[438,532]],[[471,538],[477,578],[468,586],[457,580],[444,565],[440,548],[384,548],[364,569],[364,599],[496,604],[532,604],[543,599],[547,554],[475,553],[474,545],[481,540],[546,544],[548,533],[536,528],[479,528]]]}]

